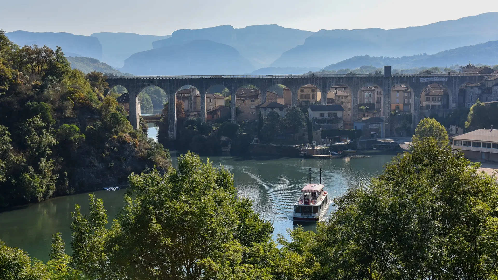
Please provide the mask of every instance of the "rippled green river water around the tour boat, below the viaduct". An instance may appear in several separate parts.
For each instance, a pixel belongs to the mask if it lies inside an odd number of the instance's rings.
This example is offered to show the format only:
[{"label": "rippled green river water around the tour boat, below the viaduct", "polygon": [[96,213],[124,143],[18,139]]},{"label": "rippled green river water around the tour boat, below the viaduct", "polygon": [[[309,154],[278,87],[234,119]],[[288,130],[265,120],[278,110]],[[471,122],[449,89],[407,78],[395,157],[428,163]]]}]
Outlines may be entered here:
[{"label": "rippled green river water around the tour boat, below the viaduct", "polygon": [[[172,152],[171,155],[175,157],[176,153]],[[238,195],[249,196],[254,200],[255,210],[273,222],[276,237],[278,233],[285,236],[287,229],[293,228],[293,222],[288,216],[292,213],[292,204],[296,201],[299,190],[308,183],[309,167],[312,168],[312,182],[319,182],[319,168],[322,168],[324,190],[329,192],[329,196],[337,197],[351,186],[369,183],[373,176],[382,172],[382,166],[392,156],[393,154],[385,153],[336,159],[212,156],[210,160],[215,165],[223,164],[234,174]],[[176,157],[173,165],[176,165]],[[95,195],[104,200],[111,222],[124,205],[124,190],[96,191]],[[51,236],[61,232],[66,241],[66,251],[70,253],[70,212],[75,204],[81,206],[82,213],[88,213],[88,193],[56,197],[1,212],[0,240],[7,246],[27,251],[31,257],[47,261]],[[332,207],[329,212],[331,210]],[[314,230],[315,227],[305,225],[308,230]]]}]

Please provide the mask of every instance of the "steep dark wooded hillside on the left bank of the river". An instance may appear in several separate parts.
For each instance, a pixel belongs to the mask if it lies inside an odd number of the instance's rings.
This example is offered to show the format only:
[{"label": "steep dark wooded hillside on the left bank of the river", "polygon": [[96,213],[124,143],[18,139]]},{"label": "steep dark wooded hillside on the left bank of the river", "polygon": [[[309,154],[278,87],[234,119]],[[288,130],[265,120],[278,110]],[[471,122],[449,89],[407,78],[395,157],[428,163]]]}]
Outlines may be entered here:
[{"label": "steep dark wooded hillside on the left bank of the river", "polygon": [[71,69],[61,48],[20,47],[0,29],[0,207],[113,186],[170,165],[133,130],[102,73]]}]

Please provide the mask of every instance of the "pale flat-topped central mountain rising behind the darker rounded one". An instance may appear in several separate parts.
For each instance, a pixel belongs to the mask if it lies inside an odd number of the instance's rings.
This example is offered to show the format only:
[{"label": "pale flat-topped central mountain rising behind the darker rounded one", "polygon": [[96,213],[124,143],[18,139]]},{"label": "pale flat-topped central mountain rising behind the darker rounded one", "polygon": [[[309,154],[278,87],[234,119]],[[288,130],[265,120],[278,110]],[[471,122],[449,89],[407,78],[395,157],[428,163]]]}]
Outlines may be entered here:
[{"label": "pale flat-topped central mountain rising behind the darker rounded one", "polygon": [[285,28],[276,24],[252,25],[245,28],[221,25],[203,29],[176,30],[171,34],[171,38],[155,41],[152,45],[156,49],[185,44],[193,40],[211,40],[234,47],[242,56],[249,59],[255,68],[261,68],[270,65],[284,51],[304,43],[304,39],[311,34],[313,32]]}]

